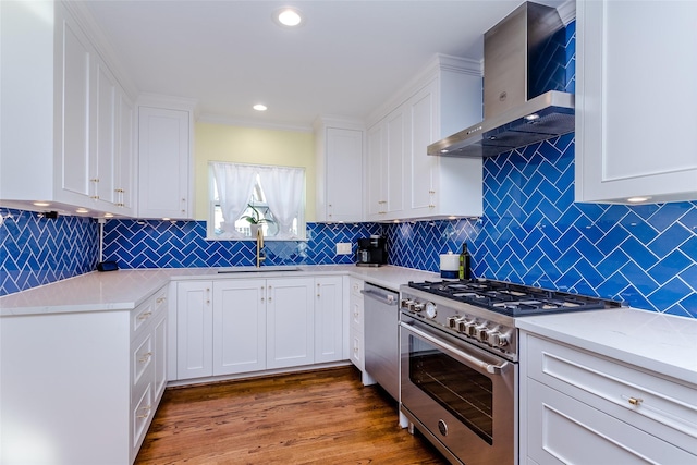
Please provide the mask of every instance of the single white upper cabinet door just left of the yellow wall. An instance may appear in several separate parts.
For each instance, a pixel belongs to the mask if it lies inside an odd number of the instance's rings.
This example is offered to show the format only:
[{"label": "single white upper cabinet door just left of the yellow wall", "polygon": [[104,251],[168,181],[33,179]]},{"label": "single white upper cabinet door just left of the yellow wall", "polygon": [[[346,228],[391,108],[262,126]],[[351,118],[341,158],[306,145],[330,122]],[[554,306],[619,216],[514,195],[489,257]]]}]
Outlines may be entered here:
[{"label": "single white upper cabinet door just left of the yellow wall", "polygon": [[191,219],[191,112],[138,109],[138,217]]}]

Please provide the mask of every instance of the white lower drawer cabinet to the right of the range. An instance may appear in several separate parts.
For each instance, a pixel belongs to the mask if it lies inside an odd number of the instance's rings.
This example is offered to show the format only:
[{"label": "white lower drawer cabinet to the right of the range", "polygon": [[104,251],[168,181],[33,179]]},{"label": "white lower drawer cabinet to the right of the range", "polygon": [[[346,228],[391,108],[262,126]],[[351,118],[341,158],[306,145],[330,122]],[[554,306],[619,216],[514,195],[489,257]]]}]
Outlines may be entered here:
[{"label": "white lower drawer cabinet to the right of the range", "polygon": [[697,463],[694,386],[522,334],[521,463]]}]

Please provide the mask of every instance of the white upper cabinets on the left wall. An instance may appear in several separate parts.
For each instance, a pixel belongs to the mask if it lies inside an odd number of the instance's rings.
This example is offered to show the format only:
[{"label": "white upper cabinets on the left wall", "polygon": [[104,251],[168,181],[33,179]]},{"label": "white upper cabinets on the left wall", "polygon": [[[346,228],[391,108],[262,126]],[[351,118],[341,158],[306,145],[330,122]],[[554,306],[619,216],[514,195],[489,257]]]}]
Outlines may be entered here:
[{"label": "white upper cabinets on the left wall", "polygon": [[133,171],[124,170],[133,164],[132,105],[122,105],[129,97],[76,20],[76,7],[0,8],[2,112],[11,115],[1,123],[0,203],[132,215],[119,191],[131,195],[126,186],[133,185]]}]

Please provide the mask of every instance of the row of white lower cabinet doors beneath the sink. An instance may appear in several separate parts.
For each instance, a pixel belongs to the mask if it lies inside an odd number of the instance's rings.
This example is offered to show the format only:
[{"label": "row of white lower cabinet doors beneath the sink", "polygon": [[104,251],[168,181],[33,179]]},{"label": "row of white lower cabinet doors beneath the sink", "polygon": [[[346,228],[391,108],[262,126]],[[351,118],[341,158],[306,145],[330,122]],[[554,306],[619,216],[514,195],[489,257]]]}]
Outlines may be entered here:
[{"label": "row of white lower cabinet doors beneath the sink", "polygon": [[176,283],[176,377],[344,359],[341,277]]}]

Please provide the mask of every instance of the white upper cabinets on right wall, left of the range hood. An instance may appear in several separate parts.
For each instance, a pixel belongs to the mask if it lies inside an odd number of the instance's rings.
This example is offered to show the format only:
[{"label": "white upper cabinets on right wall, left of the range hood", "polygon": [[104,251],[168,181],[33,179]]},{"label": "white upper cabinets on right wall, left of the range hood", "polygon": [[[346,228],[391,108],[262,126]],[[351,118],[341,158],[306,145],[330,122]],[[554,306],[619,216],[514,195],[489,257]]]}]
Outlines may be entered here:
[{"label": "white upper cabinets on right wall, left of the range hood", "polygon": [[406,89],[368,129],[367,219],[481,216],[481,159],[427,155],[481,121],[480,65],[439,56]]}]

